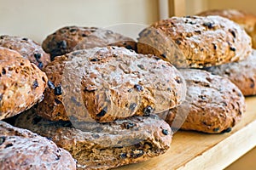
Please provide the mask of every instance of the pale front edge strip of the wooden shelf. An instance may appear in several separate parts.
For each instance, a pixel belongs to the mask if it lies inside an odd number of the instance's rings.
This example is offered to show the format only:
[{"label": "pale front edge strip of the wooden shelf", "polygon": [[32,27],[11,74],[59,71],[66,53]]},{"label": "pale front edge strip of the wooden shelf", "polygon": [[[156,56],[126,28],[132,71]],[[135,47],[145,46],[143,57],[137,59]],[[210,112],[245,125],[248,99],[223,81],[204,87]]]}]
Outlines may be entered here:
[{"label": "pale front edge strip of the wooden shelf", "polygon": [[253,121],[177,169],[224,169],[256,146],[255,132],[256,121]]}]

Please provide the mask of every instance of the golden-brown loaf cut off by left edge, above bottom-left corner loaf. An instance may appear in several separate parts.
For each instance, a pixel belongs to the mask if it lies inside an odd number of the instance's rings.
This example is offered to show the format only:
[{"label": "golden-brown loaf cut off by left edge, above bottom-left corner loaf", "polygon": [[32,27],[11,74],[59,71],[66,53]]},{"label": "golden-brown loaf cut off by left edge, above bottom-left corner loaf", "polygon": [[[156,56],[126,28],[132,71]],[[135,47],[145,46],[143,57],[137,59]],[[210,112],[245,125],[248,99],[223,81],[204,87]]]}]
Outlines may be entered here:
[{"label": "golden-brown loaf cut off by left edge, above bottom-left corner loaf", "polygon": [[0,120],[41,101],[47,77],[18,52],[0,48]]}]

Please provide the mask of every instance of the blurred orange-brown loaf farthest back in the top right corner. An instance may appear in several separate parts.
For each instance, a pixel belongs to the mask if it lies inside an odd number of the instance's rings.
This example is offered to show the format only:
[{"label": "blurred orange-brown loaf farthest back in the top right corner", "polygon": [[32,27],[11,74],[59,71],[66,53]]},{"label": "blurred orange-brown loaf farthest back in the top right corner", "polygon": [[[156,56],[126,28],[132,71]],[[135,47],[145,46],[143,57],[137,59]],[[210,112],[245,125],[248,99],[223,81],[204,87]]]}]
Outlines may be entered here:
[{"label": "blurred orange-brown loaf farthest back in the top right corner", "polygon": [[203,11],[201,16],[219,15],[235,21],[242,26],[247,34],[252,37],[253,48],[256,48],[256,15],[238,9],[212,9]]}]

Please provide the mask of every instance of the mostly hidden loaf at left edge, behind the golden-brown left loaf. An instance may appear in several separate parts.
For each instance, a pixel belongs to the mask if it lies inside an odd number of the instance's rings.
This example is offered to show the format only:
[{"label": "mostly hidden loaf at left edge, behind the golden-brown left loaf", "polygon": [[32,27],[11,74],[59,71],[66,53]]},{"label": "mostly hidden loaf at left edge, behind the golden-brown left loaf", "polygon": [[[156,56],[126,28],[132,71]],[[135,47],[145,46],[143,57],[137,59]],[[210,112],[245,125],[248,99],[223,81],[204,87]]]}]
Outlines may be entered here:
[{"label": "mostly hidden loaf at left edge, behind the golden-brown left loaf", "polygon": [[34,42],[26,37],[1,36],[0,47],[17,51],[40,69],[44,68],[50,60],[49,54],[44,52],[38,42]]}]

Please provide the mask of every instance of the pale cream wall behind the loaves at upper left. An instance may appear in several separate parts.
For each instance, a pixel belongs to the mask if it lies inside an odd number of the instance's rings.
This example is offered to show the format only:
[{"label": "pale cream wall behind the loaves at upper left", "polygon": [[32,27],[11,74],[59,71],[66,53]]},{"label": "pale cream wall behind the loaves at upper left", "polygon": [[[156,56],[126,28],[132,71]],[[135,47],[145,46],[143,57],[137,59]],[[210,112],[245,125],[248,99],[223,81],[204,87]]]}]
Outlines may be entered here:
[{"label": "pale cream wall behind the loaves at upper left", "polygon": [[41,42],[62,26],[150,24],[157,0],[0,0],[0,33]]}]

